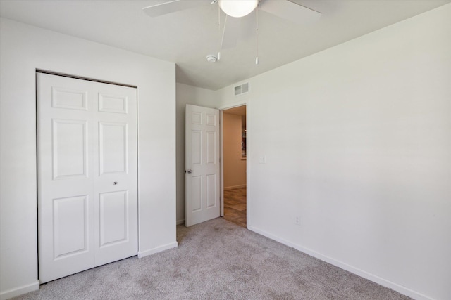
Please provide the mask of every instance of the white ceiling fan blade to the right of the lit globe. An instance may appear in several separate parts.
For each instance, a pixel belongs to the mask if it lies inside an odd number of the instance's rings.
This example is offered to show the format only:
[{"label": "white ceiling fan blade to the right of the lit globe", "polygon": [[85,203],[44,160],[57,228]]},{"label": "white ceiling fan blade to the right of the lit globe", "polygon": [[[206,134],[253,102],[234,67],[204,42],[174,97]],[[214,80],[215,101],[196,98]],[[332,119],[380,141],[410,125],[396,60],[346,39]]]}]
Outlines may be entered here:
[{"label": "white ceiling fan blade to the right of the lit globe", "polygon": [[310,8],[296,4],[290,0],[286,1],[261,1],[259,8],[262,11],[277,15],[280,18],[295,22],[299,25],[307,25],[316,22],[321,13]]}]

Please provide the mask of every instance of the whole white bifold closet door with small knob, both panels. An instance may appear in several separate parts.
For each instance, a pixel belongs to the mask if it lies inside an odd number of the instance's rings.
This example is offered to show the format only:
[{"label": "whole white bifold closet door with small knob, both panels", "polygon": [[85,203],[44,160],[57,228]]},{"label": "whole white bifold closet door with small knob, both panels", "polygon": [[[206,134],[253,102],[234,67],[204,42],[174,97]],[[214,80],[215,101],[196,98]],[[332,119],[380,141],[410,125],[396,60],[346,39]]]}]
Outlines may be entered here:
[{"label": "whole white bifold closet door with small knob, both panels", "polygon": [[137,90],[37,73],[39,280],[137,254]]}]

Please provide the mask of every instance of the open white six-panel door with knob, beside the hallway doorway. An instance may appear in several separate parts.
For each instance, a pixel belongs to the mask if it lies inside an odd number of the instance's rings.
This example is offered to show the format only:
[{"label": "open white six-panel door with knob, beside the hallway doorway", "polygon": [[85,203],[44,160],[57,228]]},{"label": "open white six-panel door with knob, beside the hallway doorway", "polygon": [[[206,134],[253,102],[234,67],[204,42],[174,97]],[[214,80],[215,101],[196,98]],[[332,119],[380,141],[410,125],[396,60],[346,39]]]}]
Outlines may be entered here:
[{"label": "open white six-panel door with knob, beside the hallway doorway", "polygon": [[186,105],[185,225],[220,214],[219,110]]}]

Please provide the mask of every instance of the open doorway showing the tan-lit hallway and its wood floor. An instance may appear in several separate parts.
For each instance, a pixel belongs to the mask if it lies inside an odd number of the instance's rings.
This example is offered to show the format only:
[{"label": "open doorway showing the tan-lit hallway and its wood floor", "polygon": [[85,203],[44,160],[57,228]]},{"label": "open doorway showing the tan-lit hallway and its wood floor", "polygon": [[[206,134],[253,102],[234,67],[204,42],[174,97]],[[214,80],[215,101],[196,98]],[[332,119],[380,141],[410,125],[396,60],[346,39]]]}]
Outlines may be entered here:
[{"label": "open doorway showing the tan-lit hallway and its wood floor", "polygon": [[246,105],[223,110],[224,219],[247,227]]}]

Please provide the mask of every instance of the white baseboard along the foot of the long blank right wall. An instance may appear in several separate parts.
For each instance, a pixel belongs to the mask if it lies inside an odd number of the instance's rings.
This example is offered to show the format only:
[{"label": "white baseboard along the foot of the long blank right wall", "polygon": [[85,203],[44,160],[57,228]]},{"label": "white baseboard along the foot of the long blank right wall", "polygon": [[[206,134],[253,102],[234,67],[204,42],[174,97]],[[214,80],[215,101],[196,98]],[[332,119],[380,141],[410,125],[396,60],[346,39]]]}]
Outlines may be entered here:
[{"label": "white baseboard along the foot of the long blank right wall", "polygon": [[350,266],[347,263],[343,263],[342,261],[338,261],[336,259],[333,259],[332,257],[323,255],[319,252],[316,252],[312,249],[302,247],[299,244],[295,244],[292,242],[289,242],[288,240],[283,239],[282,237],[278,237],[276,235],[272,235],[271,233],[267,233],[264,230],[260,230],[259,228],[256,228],[254,226],[247,226],[247,229],[254,231],[254,233],[259,233],[260,235],[264,235],[265,237],[270,238],[271,240],[275,240],[276,242],[280,242],[281,244],[285,244],[288,247],[295,248],[296,250],[300,252],[304,252],[305,254],[309,254],[310,256],[315,257],[316,259],[321,259],[321,261],[326,261],[327,263],[330,263],[333,266],[337,266],[338,268],[342,268],[343,270],[347,270],[351,273],[354,273],[356,275],[359,275],[360,277],[366,278],[368,280],[371,280],[372,282],[376,282],[379,285],[382,285],[384,287],[388,287],[389,289],[393,289],[396,292],[399,292],[401,294],[404,294],[406,296],[409,296],[413,299],[417,300],[433,300],[433,298],[426,296],[424,294],[421,294],[419,292],[415,292],[412,289],[409,289],[408,287],[404,287],[402,285],[398,285],[395,282],[392,282],[390,280],[386,280],[384,278],[379,277],[378,275],[374,275],[371,273],[366,272],[365,270],[355,268],[354,266]]}]

